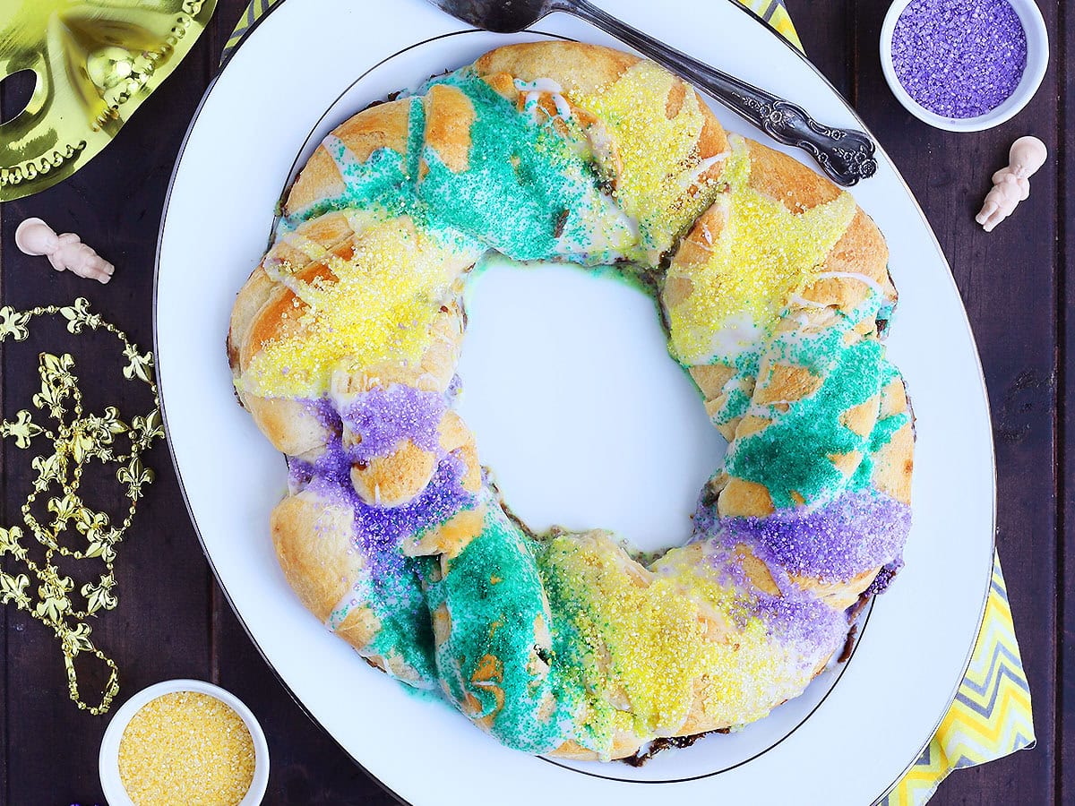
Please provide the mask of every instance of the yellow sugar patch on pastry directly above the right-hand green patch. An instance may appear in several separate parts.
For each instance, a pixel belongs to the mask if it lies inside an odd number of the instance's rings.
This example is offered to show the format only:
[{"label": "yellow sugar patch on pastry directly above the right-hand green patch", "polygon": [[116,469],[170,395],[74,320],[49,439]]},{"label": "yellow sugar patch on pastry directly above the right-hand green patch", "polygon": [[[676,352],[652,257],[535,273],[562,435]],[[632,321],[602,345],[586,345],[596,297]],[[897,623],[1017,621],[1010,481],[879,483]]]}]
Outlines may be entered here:
[{"label": "yellow sugar patch on pastry directly above the right-hand green patch", "polygon": [[729,188],[718,198],[727,208],[723,229],[704,263],[669,270],[670,278],[686,276],[692,286],[669,312],[672,347],[683,361],[734,357],[733,345],[717,343],[721,333],[769,332],[790,298],[816,278],[855,217],[855,199],[847,192],[792,214],[747,185],[749,153],[742,139],[733,138],[732,144],[720,175]]}]

